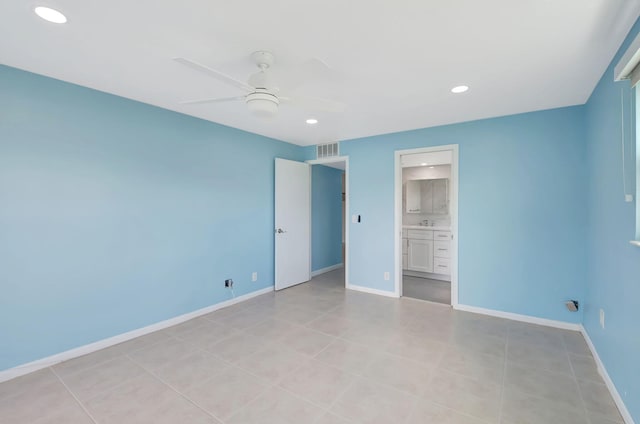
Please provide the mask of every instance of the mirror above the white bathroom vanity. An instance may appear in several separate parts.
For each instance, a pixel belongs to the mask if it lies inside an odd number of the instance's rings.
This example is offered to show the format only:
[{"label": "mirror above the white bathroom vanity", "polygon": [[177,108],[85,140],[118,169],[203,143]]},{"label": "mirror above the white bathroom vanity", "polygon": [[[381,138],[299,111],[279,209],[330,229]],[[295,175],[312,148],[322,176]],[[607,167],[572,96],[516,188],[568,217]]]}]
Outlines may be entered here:
[{"label": "mirror above the white bathroom vanity", "polygon": [[408,180],[405,187],[405,212],[449,214],[449,179]]}]

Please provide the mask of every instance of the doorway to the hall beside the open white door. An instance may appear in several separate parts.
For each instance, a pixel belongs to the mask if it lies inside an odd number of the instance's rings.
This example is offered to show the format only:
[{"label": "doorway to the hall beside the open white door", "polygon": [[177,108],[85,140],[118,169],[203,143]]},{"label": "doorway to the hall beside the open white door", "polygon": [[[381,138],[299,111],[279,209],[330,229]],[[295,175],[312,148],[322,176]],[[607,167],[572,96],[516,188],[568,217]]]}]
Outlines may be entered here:
[{"label": "doorway to the hall beside the open white door", "polygon": [[349,159],[346,156],[307,161],[311,179],[311,276],[348,287]]}]

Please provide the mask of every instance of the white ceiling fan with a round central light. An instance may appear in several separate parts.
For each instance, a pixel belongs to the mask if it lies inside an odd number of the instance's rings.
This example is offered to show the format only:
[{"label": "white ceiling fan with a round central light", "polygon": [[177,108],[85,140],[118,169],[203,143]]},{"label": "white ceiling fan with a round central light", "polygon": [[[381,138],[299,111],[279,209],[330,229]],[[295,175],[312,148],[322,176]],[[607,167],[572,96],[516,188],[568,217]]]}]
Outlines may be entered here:
[{"label": "white ceiling fan with a round central light", "polygon": [[[318,97],[290,97],[283,95],[279,87],[272,80],[271,73],[269,72],[269,69],[275,62],[275,56],[269,51],[260,50],[251,54],[251,60],[258,66],[259,71],[252,74],[246,83],[190,59],[176,57],[173,60],[245,92],[240,96],[187,100],[180,102],[180,104],[242,101],[245,102],[250,112],[261,118],[271,118],[277,115],[281,103],[318,111],[342,112],[345,109],[343,103],[333,100]],[[308,70],[317,70],[319,67],[328,69],[325,64],[317,59],[308,61],[306,64]],[[310,73],[314,74],[314,72]],[[317,74],[317,72],[315,73]],[[313,77],[313,75],[311,75],[311,77]],[[293,79],[295,80],[295,77],[293,77]]]}]

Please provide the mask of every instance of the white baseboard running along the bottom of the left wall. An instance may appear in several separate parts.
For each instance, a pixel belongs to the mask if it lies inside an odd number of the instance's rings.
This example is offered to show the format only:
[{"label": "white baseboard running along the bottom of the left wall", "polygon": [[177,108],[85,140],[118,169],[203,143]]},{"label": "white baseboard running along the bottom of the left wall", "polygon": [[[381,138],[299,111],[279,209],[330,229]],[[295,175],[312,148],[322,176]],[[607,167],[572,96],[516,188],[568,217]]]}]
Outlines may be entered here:
[{"label": "white baseboard running along the bottom of the left wall", "polygon": [[114,346],[123,342],[126,342],[136,337],[144,336],[145,334],[153,333],[158,330],[162,330],[176,324],[180,324],[190,319],[199,317],[217,311],[218,309],[225,308],[227,306],[235,305],[236,303],[249,300],[253,297],[260,296],[265,293],[273,291],[273,287],[267,287],[262,290],[247,293],[242,296],[235,297],[233,299],[225,300],[224,302],[216,303],[215,305],[207,306],[206,308],[198,309],[193,312],[186,313],[177,317],[170,318],[165,321],[160,321],[155,324],[148,325],[146,327],[138,328],[126,333],[118,334],[117,336],[109,337],[107,339],[98,340],[97,342],[90,343],[84,346],[76,347],[64,352],[57,353],[55,355],[48,356],[46,358],[38,359],[26,364],[18,365],[8,370],[0,371],[0,383],[3,381],[11,380],[21,375],[29,374],[34,371],[50,367],[57,363],[68,361],[69,359],[77,358],[79,356],[87,355],[100,349],[104,349],[110,346]]}]

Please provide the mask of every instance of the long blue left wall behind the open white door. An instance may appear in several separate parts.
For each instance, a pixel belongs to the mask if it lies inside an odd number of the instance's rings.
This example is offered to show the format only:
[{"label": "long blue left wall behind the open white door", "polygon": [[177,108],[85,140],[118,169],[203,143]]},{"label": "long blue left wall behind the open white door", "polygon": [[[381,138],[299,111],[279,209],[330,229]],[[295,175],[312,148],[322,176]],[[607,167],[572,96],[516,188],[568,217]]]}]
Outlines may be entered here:
[{"label": "long blue left wall behind the open white door", "polygon": [[0,370],[271,286],[301,152],[0,66]]}]

